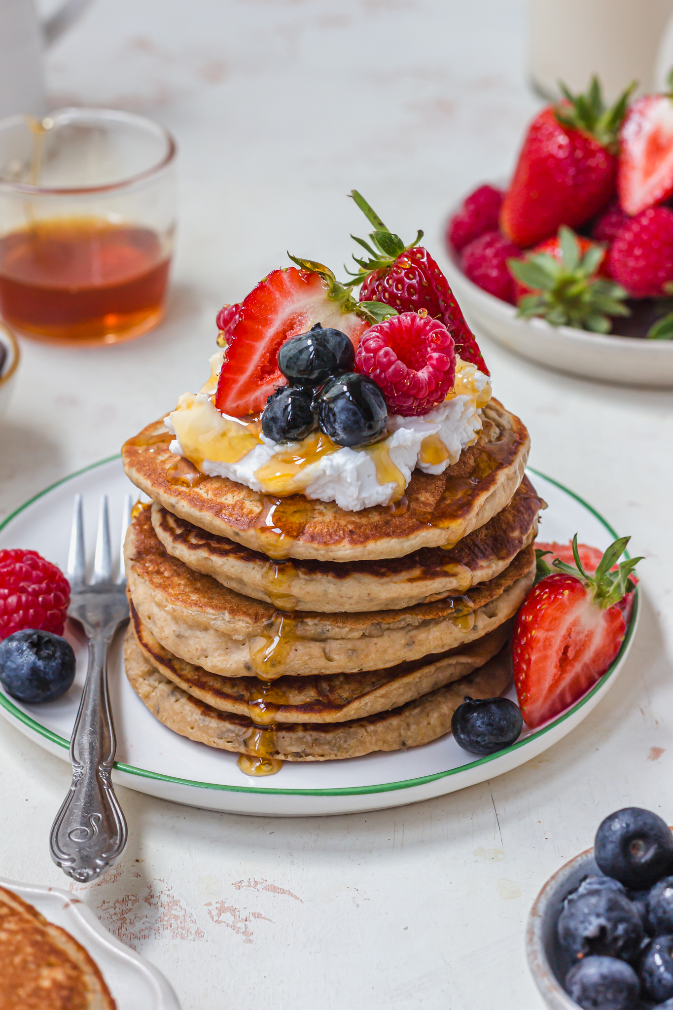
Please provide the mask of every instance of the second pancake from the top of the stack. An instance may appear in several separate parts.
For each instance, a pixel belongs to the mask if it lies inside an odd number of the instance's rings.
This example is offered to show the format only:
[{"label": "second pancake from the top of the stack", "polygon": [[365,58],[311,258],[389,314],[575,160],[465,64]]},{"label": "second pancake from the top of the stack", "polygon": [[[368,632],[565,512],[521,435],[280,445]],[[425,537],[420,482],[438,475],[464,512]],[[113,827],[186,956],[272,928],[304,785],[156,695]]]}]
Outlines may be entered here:
[{"label": "second pancake from the top of the stack", "polygon": [[206,532],[156,502],[154,531],[174,558],[228,589],[281,610],[398,610],[430,603],[488,582],[535,539],[545,507],[527,477],[501,512],[452,550],[424,547],[373,562],[272,562],[233,540]]}]

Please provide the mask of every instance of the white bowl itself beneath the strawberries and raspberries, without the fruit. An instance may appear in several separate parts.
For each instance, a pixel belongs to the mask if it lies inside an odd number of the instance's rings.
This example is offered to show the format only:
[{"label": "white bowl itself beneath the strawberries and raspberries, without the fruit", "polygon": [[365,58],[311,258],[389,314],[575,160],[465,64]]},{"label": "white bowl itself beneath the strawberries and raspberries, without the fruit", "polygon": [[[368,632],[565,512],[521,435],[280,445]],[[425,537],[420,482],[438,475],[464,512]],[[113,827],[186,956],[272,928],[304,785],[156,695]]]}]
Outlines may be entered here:
[{"label": "white bowl itself beneath the strawberries and raspberries, without the fruit", "polygon": [[[457,209],[454,207],[450,216]],[[514,305],[482,291],[465,277],[459,252],[447,251],[447,257],[446,278],[468,323],[509,350],[587,379],[673,387],[673,340],[611,336],[571,326],[551,326],[544,319],[520,319]]]}]

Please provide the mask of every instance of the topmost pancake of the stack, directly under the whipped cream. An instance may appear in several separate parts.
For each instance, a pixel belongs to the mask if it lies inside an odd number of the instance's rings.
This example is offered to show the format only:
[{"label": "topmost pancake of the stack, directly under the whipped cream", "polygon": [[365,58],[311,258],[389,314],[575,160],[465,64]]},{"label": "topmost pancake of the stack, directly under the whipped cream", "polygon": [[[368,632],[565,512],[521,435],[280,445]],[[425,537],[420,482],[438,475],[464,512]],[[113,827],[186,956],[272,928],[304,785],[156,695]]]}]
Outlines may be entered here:
[{"label": "topmost pancake of the stack, directly under the whipped cream", "polygon": [[[522,482],[528,432],[497,400],[482,409],[477,442],[444,474],[414,471],[396,506],[347,512],[304,495],[271,498],[223,477],[189,486],[166,473],[180,463],[162,421],[122,447],[124,470],[141,491],[181,519],[268,557],[317,561],[402,558],[421,547],[454,545],[512,500]],[[170,479],[171,478],[171,479]]]}]

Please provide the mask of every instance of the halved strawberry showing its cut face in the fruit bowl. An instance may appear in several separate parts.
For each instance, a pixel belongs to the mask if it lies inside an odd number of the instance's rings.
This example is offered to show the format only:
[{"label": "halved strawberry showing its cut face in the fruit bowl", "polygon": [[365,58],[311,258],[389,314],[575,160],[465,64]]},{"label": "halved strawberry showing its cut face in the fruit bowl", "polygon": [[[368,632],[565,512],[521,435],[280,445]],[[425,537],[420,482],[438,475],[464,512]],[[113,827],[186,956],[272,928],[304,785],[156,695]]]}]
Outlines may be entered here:
[{"label": "halved strawberry showing its cut face in the fruit bowl", "polygon": [[620,141],[620,204],[627,214],[640,214],[673,194],[673,96],[645,95],[635,102]]}]

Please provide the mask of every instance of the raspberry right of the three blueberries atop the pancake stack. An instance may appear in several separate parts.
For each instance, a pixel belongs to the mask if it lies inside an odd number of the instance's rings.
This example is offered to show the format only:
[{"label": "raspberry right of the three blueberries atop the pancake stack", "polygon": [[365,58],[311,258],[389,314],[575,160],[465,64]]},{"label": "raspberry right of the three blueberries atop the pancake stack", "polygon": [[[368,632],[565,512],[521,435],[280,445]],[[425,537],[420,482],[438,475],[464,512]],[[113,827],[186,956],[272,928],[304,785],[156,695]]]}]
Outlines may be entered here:
[{"label": "raspberry right of the three blueberries atop the pancake stack", "polygon": [[364,331],[355,368],[378,383],[390,413],[427,414],[453,389],[453,337],[439,319],[403,312]]}]

